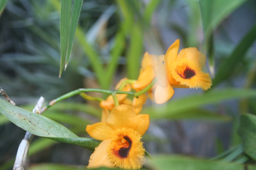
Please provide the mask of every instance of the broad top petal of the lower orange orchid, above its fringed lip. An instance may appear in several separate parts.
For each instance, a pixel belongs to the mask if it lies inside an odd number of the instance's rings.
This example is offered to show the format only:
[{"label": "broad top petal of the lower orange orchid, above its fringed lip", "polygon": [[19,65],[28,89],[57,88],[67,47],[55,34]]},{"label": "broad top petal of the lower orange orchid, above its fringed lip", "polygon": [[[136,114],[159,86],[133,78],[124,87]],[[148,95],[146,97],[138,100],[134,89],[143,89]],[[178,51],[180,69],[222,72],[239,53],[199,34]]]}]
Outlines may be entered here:
[{"label": "broad top petal of the lower orange orchid, above its fringed lip", "polygon": [[119,105],[114,107],[108,115],[106,124],[113,130],[120,128],[137,129],[138,121],[132,106]]}]

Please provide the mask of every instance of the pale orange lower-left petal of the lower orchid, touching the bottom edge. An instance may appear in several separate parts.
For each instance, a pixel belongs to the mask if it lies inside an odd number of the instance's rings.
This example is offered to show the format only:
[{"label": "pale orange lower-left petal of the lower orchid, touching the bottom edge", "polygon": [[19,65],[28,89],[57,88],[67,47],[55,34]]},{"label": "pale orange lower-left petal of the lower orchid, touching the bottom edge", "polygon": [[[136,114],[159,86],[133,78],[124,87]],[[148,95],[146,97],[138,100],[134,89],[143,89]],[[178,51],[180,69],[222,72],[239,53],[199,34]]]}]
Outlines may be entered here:
[{"label": "pale orange lower-left petal of the lower orchid, touching the bottom edge", "polygon": [[89,165],[87,168],[97,168],[100,166],[105,167],[115,167],[114,163],[108,157],[108,146],[111,143],[111,139],[102,141],[98,147],[95,148],[95,151],[92,153]]}]

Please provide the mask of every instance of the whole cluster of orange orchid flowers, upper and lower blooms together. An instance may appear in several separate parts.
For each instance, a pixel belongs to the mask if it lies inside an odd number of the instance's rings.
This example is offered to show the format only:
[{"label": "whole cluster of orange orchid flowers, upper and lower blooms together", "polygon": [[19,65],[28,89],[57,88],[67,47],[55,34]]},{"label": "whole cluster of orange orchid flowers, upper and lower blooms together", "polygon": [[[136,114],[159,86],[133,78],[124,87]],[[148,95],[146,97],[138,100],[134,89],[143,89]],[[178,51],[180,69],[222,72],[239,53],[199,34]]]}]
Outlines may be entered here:
[{"label": "whole cluster of orange orchid flowers, upper and lower blooms together", "polygon": [[148,95],[142,93],[129,98],[128,94],[116,94],[100,102],[101,122],[86,127],[91,137],[102,140],[92,153],[88,168],[141,168],[145,162],[141,137],[148,129],[149,115],[139,113],[147,98],[162,104],[172,97],[173,88],[207,90],[211,87],[210,75],[202,71],[205,55],[196,48],[184,48],[178,53],[179,46],[180,40],[176,40],[165,55],[146,52],[139,78],[123,78],[116,85],[116,90],[124,92],[140,92],[147,88]]}]

